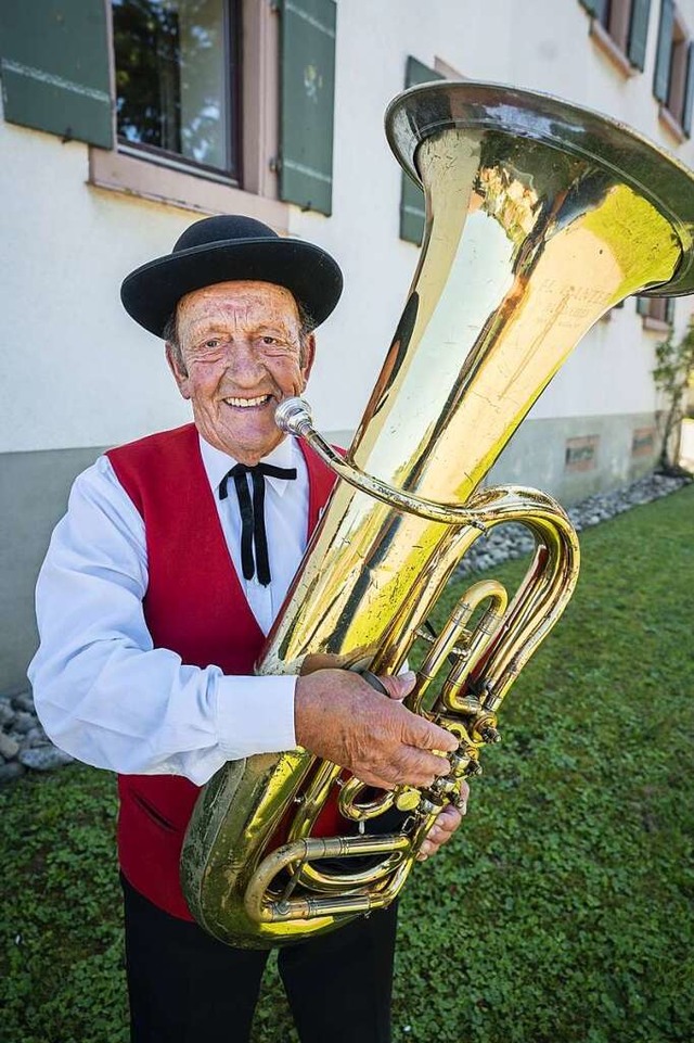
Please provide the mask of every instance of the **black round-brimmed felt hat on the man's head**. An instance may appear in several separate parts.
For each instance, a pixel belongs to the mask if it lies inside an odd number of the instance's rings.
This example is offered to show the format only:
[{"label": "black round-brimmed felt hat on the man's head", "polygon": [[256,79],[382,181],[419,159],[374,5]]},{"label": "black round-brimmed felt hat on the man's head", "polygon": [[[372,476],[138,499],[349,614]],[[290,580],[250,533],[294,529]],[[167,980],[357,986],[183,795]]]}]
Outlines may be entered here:
[{"label": "black round-brimmed felt hat on the man's head", "polygon": [[174,250],[136,268],[120,287],[126,311],[162,336],[176,305],[193,290],[233,279],[286,287],[319,326],[343,291],[335,260],[312,243],[283,239],[253,217],[206,217],[187,228]]}]

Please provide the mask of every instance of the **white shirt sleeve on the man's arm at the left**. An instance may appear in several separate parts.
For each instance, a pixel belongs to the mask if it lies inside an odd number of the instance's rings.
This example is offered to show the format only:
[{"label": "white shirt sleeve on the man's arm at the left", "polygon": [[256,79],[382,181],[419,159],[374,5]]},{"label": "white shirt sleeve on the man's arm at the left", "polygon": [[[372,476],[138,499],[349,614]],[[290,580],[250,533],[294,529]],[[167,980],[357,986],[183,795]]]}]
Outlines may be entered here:
[{"label": "white shirt sleeve on the man's arm at the left", "polygon": [[36,709],[72,756],[198,786],[228,760],[294,749],[294,677],[230,677],[154,648],[144,524],[106,457],[76,480],[39,574]]}]

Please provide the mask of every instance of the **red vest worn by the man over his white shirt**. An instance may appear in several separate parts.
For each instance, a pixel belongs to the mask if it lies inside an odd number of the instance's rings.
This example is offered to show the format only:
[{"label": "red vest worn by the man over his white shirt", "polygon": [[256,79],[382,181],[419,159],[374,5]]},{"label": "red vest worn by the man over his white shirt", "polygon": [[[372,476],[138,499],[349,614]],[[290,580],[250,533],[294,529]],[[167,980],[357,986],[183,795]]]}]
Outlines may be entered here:
[{"label": "red vest worn by the man over his white shirt", "polygon": [[[335,476],[303,444],[301,450],[310,535]],[[171,649],[189,665],[253,674],[265,637],[227,549],[197,430],[187,424],[107,455],[144,520],[150,578],[143,606],[154,647]],[[120,775],[118,791],[124,875],[159,908],[192,919],[179,883],[179,860],[200,788],[176,775]]]}]

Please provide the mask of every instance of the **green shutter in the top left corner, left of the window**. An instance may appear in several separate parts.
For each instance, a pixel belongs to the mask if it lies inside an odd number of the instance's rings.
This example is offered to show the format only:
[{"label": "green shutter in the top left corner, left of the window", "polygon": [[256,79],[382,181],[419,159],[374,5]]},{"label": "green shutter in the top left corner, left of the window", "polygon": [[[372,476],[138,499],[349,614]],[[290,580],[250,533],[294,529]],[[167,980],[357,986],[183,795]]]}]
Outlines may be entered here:
[{"label": "green shutter in the top left corner, left of the window", "polygon": [[113,148],[104,0],[0,0],[4,118]]}]

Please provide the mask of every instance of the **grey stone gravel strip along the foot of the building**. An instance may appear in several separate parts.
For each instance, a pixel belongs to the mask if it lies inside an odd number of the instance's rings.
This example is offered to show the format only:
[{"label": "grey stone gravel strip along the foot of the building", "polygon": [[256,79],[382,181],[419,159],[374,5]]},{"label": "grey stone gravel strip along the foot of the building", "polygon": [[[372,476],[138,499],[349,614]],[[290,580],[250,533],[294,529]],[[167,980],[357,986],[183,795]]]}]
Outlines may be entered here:
[{"label": "grey stone gravel strip along the foot of the building", "polygon": [[[686,485],[689,478],[648,474],[609,493],[599,493],[574,507],[568,516],[577,532],[621,514],[632,507],[650,504]],[[481,536],[458,569],[461,576],[500,565],[532,550],[532,537],[523,525],[499,525]],[[0,694],[0,785],[12,783],[27,772],[50,772],[70,764],[68,753],[59,750],[41,727],[30,691]]]}]

